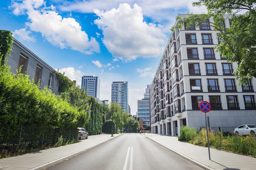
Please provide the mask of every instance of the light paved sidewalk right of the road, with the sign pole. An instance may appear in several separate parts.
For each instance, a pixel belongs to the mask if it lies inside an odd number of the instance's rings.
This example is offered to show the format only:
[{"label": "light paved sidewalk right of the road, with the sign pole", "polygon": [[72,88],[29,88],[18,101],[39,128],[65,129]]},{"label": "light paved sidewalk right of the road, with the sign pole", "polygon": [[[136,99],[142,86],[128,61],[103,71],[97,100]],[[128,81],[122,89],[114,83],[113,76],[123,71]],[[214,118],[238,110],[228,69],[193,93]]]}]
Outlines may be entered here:
[{"label": "light paved sidewalk right of the road, with the sign pole", "polygon": [[145,133],[145,136],[161,144],[181,157],[205,170],[256,170],[256,158],[178,141],[177,137]]}]

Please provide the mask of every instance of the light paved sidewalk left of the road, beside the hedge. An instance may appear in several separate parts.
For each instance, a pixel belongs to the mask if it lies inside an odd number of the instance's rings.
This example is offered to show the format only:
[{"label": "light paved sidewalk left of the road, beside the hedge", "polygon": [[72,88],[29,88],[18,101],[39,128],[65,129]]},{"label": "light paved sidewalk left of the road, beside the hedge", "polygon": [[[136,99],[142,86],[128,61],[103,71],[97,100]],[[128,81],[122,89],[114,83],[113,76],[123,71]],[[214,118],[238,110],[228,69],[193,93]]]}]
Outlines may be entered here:
[{"label": "light paved sidewalk left of the road, beside the hedge", "polygon": [[[121,134],[114,134],[117,137]],[[36,170],[61,162],[112,139],[111,134],[92,135],[82,142],[0,159],[0,170]]]}]

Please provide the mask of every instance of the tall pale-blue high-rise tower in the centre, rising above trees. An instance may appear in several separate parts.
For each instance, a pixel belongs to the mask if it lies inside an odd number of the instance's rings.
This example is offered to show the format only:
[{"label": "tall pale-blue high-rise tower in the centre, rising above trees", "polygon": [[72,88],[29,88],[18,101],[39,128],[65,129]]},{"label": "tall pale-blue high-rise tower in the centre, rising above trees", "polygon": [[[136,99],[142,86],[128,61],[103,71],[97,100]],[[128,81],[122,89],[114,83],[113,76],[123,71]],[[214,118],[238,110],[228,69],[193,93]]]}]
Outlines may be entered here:
[{"label": "tall pale-blue high-rise tower in the centre, rising above trees", "polygon": [[130,113],[130,106],[128,104],[128,82],[114,81],[111,86],[111,102],[118,103],[123,110]]}]

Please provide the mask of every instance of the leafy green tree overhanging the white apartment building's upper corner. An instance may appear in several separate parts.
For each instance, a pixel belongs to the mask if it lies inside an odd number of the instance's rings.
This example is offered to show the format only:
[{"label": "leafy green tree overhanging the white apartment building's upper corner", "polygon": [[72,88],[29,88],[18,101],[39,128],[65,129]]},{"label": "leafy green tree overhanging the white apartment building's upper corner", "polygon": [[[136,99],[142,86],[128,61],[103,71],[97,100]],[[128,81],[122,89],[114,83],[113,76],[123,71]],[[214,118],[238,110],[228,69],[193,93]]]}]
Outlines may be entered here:
[{"label": "leafy green tree overhanging the white apartment building's upper corner", "polygon": [[[206,6],[208,13],[189,17],[176,17],[177,24],[171,28],[174,31],[181,28],[184,23],[189,28],[191,25],[200,26],[209,17],[213,17],[211,23],[214,30],[218,31],[218,39],[221,41],[216,46],[222,57],[227,61],[238,63],[234,75],[240,84],[247,84],[248,80],[256,77],[256,2],[253,0],[198,0],[193,6]],[[237,15],[243,13],[243,15]],[[222,23],[227,18],[224,14],[231,15],[230,28],[224,28]]]}]

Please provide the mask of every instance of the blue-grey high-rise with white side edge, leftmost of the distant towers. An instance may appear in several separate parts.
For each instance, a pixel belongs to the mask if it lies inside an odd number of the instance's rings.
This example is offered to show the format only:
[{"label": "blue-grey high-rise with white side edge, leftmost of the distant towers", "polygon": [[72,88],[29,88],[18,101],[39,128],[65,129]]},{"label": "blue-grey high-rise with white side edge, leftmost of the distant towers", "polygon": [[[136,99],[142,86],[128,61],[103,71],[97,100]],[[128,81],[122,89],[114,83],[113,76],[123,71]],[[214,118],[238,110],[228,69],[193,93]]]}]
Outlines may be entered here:
[{"label": "blue-grey high-rise with white side edge, leftmost of the distant towers", "polygon": [[100,79],[97,76],[82,76],[81,87],[87,91],[88,96],[99,98]]}]

